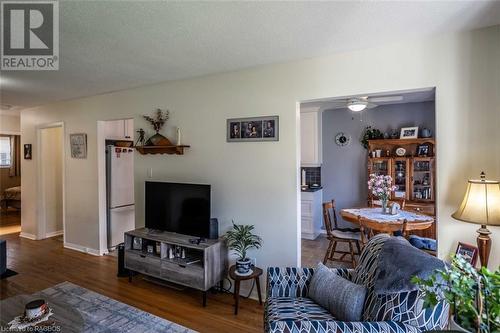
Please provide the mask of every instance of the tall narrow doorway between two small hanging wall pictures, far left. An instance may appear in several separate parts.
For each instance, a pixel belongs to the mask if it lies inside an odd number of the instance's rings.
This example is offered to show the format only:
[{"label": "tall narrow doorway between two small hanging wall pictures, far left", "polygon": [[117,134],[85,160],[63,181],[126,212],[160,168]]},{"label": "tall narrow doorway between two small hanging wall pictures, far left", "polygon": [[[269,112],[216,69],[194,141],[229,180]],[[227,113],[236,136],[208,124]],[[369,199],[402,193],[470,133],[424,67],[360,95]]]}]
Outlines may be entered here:
[{"label": "tall narrow doorway between two small hanging wall pictures, far left", "polygon": [[37,155],[40,192],[37,238],[62,236],[64,242],[64,125],[62,123],[38,129]]}]

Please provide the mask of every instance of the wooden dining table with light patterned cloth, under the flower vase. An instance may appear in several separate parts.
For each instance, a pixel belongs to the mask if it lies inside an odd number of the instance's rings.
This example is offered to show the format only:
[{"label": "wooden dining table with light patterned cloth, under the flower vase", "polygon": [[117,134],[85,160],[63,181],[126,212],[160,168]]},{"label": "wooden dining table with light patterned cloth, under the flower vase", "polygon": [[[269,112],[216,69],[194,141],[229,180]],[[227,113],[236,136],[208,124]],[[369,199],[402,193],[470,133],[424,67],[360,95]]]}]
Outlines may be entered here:
[{"label": "wooden dining table with light patterned cloth, under the flower vase", "polygon": [[425,230],[435,223],[433,216],[399,210],[396,214],[388,214],[380,207],[344,208],[340,216],[348,222],[357,224],[361,230],[394,234],[400,231],[407,236],[409,231]]}]

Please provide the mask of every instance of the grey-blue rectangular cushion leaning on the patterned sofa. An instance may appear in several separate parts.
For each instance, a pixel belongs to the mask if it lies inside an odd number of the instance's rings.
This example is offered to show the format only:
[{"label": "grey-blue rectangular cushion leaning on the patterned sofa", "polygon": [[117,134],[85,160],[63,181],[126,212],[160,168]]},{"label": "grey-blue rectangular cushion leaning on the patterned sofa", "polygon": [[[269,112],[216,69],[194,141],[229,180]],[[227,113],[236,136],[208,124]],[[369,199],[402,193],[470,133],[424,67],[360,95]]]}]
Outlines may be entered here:
[{"label": "grey-blue rectangular cushion leaning on the patterned sofa", "polygon": [[366,288],[339,276],[319,263],[309,286],[309,297],[327,309],[335,318],[360,321]]}]

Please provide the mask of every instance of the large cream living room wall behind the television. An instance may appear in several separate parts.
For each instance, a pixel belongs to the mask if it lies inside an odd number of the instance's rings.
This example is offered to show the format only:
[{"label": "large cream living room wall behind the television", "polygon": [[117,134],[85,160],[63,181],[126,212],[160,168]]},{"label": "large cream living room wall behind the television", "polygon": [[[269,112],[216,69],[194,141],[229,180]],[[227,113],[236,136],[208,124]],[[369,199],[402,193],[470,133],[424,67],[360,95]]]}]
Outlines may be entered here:
[{"label": "large cream living room wall behind the television", "polygon": [[[294,265],[297,237],[298,117],[296,102],[436,87],[438,145],[439,254],[457,242],[473,243],[477,226],[454,221],[466,180],[485,170],[500,178],[500,26],[438,36],[329,57],[167,82],[22,112],[23,143],[33,143],[35,126],[64,121],[67,133],[88,134],[88,158],[66,159],[67,241],[98,249],[97,120],[140,118],[167,107],[173,127],[191,144],[184,156],[136,154],[137,224],[143,224],[143,182],[148,169],[155,179],[213,185],[213,215],[225,231],[230,220],[256,225],[264,239],[257,263]],[[280,116],[280,141],[226,143],[229,117]],[[151,133],[151,131],[150,131]],[[67,136],[67,135],[66,135]],[[65,138],[68,149],[68,138]],[[36,163],[23,160],[23,231],[35,229]],[[500,228],[491,264],[500,263]]]}]

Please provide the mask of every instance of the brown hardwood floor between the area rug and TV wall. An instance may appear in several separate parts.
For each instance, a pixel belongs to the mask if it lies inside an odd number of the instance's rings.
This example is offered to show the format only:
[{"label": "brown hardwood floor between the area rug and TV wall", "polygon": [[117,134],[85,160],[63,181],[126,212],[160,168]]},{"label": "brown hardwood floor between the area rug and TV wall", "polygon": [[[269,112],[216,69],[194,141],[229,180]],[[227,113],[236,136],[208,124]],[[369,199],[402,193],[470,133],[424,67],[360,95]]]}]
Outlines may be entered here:
[{"label": "brown hardwood floor between the area rug and TV wall", "polygon": [[235,316],[230,294],[209,293],[203,308],[198,291],[173,290],[140,276],[132,283],[116,277],[114,256],[96,257],[65,249],[55,238],[32,241],[18,234],[1,237],[7,239],[7,266],[19,274],[0,280],[0,299],[70,281],[199,332],[263,331],[263,306],[255,300],[240,299]]}]

